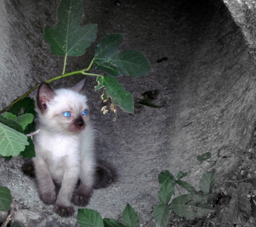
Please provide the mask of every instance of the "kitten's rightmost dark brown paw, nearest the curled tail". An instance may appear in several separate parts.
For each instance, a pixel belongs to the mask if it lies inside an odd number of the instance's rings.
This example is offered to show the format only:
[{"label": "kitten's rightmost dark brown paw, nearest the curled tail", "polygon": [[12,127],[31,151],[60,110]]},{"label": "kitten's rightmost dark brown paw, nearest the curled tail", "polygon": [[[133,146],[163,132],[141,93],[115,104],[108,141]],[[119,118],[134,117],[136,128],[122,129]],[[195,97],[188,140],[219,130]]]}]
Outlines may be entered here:
[{"label": "kitten's rightmost dark brown paw, nearest the curled tail", "polygon": [[87,206],[92,196],[92,188],[89,187],[79,187],[78,190],[74,192],[73,203],[76,206]]}]

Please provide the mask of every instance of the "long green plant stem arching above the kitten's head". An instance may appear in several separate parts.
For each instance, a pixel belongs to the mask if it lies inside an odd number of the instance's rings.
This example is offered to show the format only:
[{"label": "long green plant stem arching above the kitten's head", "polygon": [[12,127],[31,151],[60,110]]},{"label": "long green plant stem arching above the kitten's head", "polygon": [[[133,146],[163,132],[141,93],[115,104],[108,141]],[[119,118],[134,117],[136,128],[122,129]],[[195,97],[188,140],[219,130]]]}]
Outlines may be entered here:
[{"label": "long green plant stem arching above the kitten's head", "polygon": [[[67,74],[63,74],[57,77],[54,77],[50,80],[45,81],[46,83],[52,82],[54,80],[58,80],[60,78],[66,77],[66,76],[71,76],[71,75],[75,75],[75,74],[83,74],[83,75],[90,75],[90,76],[102,76],[102,75],[98,75],[98,74],[92,74],[92,73],[88,73],[88,72],[84,72],[84,71],[88,71],[91,67],[93,63],[93,60],[91,61],[91,64],[89,65],[89,67],[87,69],[83,69],[83,70],[79,70],[79,71],[74,71],[74,72],[70,72]],[[65,70],[65,69],[63,69]],[[7,106],[6,108],[2,109],[0,111],[0,113],[4,113],[5,111],[7,111],[11,106],[13,106],[16,102],[20,101],[22,98],[24,98],[25,96],[27,96],[30,92],[34,91],[37,87],[39,87],[39,84],[37,84],[36,86],[34,86],[33,88],[31,88],[29,91],[27,91],[25,94],[23,94],[21,97],[17,98],[14,102],[12,102],[9,106]]]}]

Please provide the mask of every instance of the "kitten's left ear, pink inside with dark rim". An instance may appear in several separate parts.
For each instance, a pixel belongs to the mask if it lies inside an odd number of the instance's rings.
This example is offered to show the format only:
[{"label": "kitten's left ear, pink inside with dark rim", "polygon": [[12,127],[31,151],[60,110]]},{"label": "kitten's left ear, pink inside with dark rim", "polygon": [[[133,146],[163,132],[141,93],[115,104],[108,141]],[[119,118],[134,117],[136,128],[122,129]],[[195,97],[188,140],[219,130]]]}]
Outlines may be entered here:
[{"label": "kitten's left ear, pink inside with dark rim", "polygon": [[41,83],[38,88],[36,101],[37,107],[39,108],[39,110],[41,110],[42,113],[47,109],[47,102],[50,102],[55,95],[56,93],[48,85],[48,83]]}]

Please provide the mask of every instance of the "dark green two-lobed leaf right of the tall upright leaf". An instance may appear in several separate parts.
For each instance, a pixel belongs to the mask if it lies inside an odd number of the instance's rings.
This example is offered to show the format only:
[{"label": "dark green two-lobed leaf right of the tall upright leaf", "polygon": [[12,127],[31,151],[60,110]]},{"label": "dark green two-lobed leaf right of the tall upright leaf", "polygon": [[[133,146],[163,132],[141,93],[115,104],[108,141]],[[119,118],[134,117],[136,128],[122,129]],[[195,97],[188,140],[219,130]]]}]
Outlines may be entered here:
[{"label": "dark green two-lobed leaf right of the tall upright leaf", "polygon": [[96,69],[103,69],[112,76],[139,77],[151,72],[148,59],[140,51],[125,50],[119,52],[117,48],[122,41],[122,34],[110,34],[98,43],[94,56]]}]

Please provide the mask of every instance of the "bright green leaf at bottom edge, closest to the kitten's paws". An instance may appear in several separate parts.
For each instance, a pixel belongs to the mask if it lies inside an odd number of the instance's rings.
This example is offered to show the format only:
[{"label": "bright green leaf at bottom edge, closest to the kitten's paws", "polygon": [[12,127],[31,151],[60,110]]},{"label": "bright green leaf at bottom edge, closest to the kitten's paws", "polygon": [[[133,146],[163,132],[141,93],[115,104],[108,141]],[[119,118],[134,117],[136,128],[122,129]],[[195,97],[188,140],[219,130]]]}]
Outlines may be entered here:
[{"label": "bright green leaf at bottom edge, closest to the kitten's paws", "polygon": [[103,227],[103,221],[100,214],[91,209],[78,209],[77,223],[81,227]]}]

